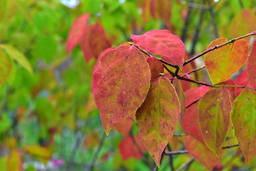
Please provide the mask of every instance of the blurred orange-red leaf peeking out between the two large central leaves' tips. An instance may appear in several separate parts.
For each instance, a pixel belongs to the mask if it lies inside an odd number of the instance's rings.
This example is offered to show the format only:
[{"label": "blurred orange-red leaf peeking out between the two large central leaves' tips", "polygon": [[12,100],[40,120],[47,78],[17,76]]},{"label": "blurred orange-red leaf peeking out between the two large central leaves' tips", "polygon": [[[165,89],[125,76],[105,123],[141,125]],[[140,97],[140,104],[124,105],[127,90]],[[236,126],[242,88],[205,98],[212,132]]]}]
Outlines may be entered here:
[{"label": "blurred orange-red leaf peeking out between the two large central leaves' tips", "polygon": [[[135,118],[135,114],[132,114],[131,117]],[[132,118],[126,118],[119,121],[118,123],[115,124],[114,129],[119,133],[121,133],[124,137],[126,137],[130,133],[133,125]]]}]

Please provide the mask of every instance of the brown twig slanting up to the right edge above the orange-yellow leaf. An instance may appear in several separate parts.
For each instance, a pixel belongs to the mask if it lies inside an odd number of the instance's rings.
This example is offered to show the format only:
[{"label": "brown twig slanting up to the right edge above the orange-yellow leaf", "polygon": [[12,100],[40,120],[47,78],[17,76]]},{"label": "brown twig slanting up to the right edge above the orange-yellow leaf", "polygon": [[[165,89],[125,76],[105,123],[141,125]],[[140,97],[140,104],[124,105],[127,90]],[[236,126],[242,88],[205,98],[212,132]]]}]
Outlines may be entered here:
[{"label": "brown twig slanting up to the right edge above the orange-yellow leaf", "polygon": [[249,34],[245,34],[245,35],[240,36],[240,37],[237,37],[237,38],[232,38],[232,39],[230,39],[229,41],[224,42],[224,43],[221,44],[221,45],[216,45],[216,46],[214,46],[214,47],[210,47],[209,49],[207,49],[206,51],[204,51],[204,52],[198,54],[197,56],[194,56],[193,58],[190,58],[190,59],[186,60],[186,61],[183,63],[183,66],[187,65],[187,63],[189,63],[189,62],[191,62],[191,61],[193,61],[193,60],[199,58],[200,56],[203,56],[204,54],[206,54],[206,53],[208,53],[208,52],[210,52],[210,51],[213,51],[213,50],[215,50],[215,49],[221,48],[221,47],[223,47],[223,46],[225,46],[225,45],[228,45],[228,44],[233,43],[234,41],[237,41],[237,40],[239,40],[239,39],[242,39],[242,38],[248,37],[248,36],[252,36],[252,35],[256,35],[256,31],[253,31],[253,32],[251,32],[251,33],[249,33]]}]

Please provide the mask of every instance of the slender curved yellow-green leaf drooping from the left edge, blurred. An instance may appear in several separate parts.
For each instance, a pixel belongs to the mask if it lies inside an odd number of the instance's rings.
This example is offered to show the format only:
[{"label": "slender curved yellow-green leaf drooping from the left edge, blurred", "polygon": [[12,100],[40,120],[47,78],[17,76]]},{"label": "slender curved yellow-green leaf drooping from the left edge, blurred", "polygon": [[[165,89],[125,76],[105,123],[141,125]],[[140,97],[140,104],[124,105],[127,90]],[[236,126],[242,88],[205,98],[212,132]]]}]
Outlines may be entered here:
[{"label": "slender curved yellow-green leaf drooping from the left edge, blurred", "polygon": [[12,58],[16,60],[20,66],[27,69],[31,74],[33,73],[32,67],[28,61],[28,59],[20,53],[17,49],[12,46],[1,44],[0,47],[6,51],[6,53]]}]

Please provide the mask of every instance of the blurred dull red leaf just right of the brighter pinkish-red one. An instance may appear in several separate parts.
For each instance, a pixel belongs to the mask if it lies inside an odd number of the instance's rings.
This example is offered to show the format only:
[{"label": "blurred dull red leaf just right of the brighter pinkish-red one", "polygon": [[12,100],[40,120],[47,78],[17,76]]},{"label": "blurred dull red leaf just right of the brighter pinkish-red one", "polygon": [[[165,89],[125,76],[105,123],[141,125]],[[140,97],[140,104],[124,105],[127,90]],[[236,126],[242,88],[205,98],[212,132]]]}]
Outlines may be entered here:
[{"label": "blurred dull red leaf just right of the brighter pinkish-red one", "polygon": [[89,25],[87,27],[86,34],[84,34],[81,39],[81,49],[87,62],[89,62],[92,58],[98,58],[102,51],[110,47],[111,42],[106,37],[102,26],[97,24]]}]

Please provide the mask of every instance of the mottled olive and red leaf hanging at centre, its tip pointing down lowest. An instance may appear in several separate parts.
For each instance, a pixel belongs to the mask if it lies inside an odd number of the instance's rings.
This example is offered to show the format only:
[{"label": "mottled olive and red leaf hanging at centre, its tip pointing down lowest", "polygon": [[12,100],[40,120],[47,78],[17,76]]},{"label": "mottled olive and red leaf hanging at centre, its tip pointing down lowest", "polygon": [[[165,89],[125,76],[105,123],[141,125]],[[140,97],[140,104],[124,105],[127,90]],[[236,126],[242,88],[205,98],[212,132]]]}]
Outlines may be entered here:
[{"label": "mottled olive and red leaf hanging at centre, its tip pointing down lowest", "polygon": [[180,102],[167,77],[151,81],[145,101],[136,112],[139,137],[160,166],[161,154],[173,136],[180,113]]}]

